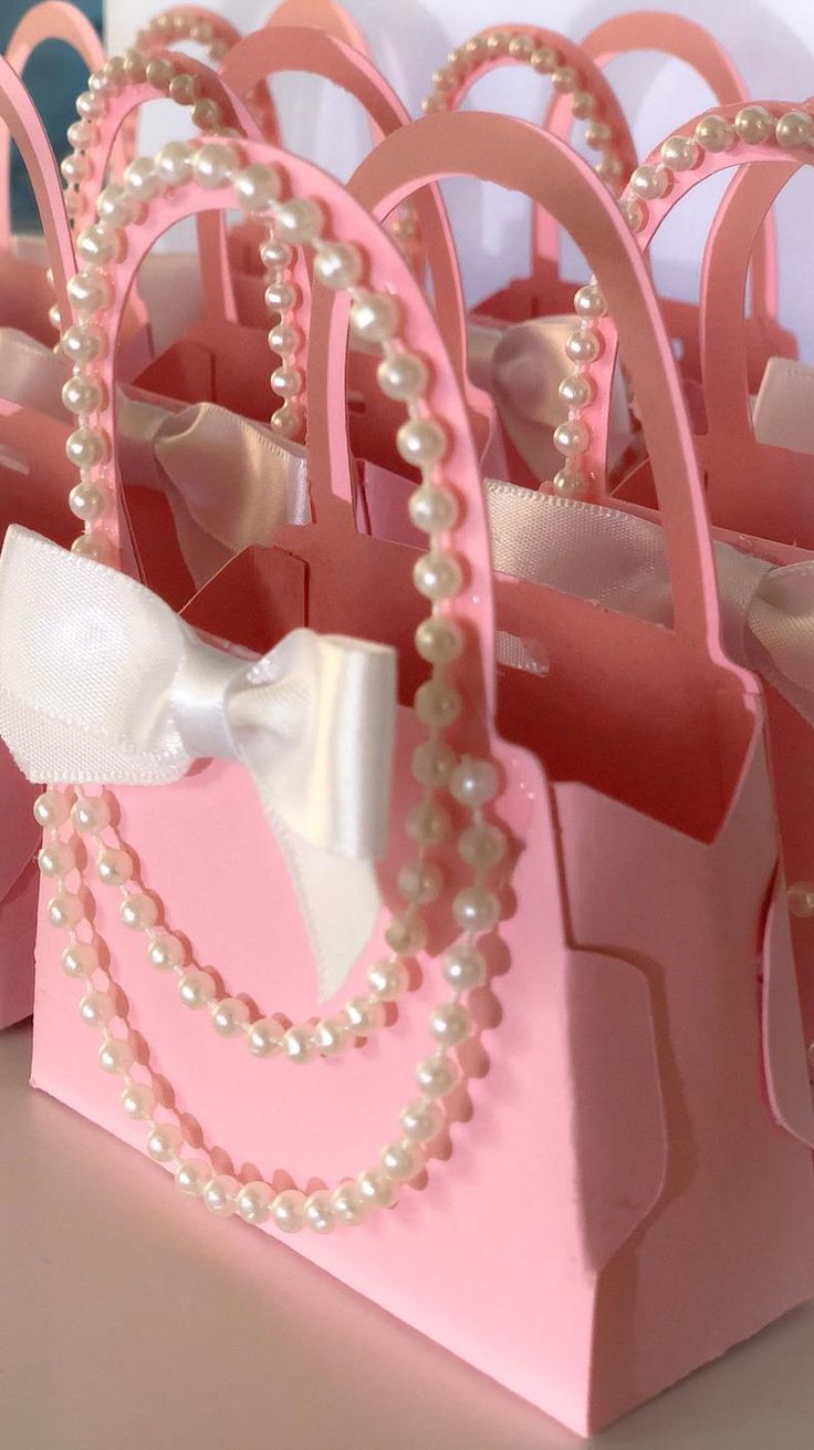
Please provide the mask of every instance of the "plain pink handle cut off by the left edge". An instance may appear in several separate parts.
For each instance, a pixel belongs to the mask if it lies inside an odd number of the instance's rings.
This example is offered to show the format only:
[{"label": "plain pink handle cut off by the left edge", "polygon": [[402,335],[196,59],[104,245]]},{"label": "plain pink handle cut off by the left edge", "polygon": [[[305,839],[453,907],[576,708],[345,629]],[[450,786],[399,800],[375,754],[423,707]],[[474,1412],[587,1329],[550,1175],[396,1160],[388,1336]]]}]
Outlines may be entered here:
[{"label": "plain pink handle cut off by the left edge", "polygon": [[[68,9],[64,6],[61,9]],[[51,149],[48,132],[17,72],[0,57],[0,119],[6,135],[16,144],[33,187],[36,209],[45,233],[49,264],[54,271],[54,293],[59,316],[71,316],[67,283],[77,270],[71,228],[62,200],[62,183]],[[6,160],[9,148],[4,151]],[[6,187],[7,197],[7,187]],[[0,380],[0,389],[1,389]]]}]

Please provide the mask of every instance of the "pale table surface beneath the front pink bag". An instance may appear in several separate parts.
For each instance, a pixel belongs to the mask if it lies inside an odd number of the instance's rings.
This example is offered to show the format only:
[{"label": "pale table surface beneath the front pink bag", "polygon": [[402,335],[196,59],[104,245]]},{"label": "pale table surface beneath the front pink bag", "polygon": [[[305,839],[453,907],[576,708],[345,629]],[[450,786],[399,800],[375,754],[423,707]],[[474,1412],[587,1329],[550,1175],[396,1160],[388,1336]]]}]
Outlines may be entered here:
[{"label": "pale table surface beneath the front pink bag", "polygon": [[[3,1450],[572,1450],[569,1434],[28,1086],[0,1037]],[[813,1225],[814,1232],[814,1225]],[[597,1437],[810,1450],[814,1306]]]}]

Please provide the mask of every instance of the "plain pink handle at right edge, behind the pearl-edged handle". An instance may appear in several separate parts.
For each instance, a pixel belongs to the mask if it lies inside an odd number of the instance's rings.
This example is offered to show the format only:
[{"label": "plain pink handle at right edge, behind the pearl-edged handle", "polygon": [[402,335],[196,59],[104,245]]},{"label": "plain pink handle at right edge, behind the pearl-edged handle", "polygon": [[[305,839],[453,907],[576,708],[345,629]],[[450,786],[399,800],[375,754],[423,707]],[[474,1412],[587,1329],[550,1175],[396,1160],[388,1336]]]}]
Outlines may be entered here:
[{"label": "plain pink handle at right edge, behind the pearl-edged handle", "polygon": [[[798,167],[794,161],[743,167],[710,231],[701,274],[701,377],[711,434],[752,436],[744,315],[749,267],[778,193]],[[726,354],[721,338],[727,339]]]}]

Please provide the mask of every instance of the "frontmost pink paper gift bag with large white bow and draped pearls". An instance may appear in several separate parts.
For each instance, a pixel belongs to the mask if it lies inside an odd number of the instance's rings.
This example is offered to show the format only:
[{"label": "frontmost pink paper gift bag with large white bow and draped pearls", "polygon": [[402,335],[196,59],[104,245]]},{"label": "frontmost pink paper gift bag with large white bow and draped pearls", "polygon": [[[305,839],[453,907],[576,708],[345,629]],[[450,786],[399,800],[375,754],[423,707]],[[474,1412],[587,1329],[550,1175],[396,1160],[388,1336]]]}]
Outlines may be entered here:
[{"label": "frontmost pink paper gift bag with large white bow and draped pearls", "polygon": [[[669,342],[624,222],[562,142],[462,115],[429,117],[375,154],[381,194],[465,174],[547,206],[618,318],[675,629],[495,581],[465,402],[417,284],[337,183],[274,148],[240,149],[243,165],[277,168],[284,196],[319,200],[320,268],[342,262],[348,280],[364,257],[353,325],[401,358],[384,377],[413,397],[401,442],[420,455],[413,513],[430,550],[356,531],[349,299],[323,287],[307,360],[314,519],[278,536],[287,583],[271,586],[262,638],[249,641],[259,660],[211,638],[253,603],[227,571],[209,613],[197,602],[201,637],[97,563],[114,558],[114,467],[100,473],[109,509],[78,557],[10,536],[0,725],[29,770],[45,754],[52,780],[84,782],[72,824],[64,790],[43,806],[33,1080],[146,1141],[216,1217],[238,1209],[291,1234],[584,1433],[814,1290],[811,1156],[763,1088],[773,1035],[786,1099],[807,1090],[760,697],[718,644]],[[236,184],[268,196],[262,170]],[[227,206],[232,191],[193,180],[127,228],[126,261],[110,270],[112,339],[146,249],[216,197]],[[258,210],[280,228],[314,216]],[[113,347],[100,376],[114,399]],[[113,409],[93,425],[114,457]],[[33,593],[36,608],[20,610]],[[540,629],[545,680],[495,676],[492,609],[501,629]],[[232,628],[233,645],[245,634]],[[356,958],[353,931],[375,915],[362,880],[391,725],[381,909]],[[64,967],[80,979],[80,1012]],[[107,1073],[88,1025],[101,1027]]]}]

